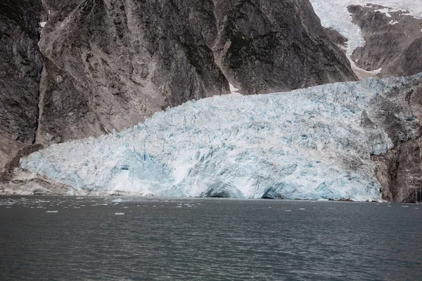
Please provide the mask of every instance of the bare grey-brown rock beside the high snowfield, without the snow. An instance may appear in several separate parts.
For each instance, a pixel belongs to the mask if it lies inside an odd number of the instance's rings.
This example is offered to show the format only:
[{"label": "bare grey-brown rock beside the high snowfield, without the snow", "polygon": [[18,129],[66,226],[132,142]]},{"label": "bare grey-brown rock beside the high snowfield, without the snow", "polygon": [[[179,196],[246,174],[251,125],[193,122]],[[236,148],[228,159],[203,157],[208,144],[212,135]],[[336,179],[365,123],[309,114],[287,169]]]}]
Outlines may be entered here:
[{"label": "bare grey-brown rock beside the high snowfield, without the snow", "polygon": [[349,6],[353,22],[361,27],[366,44],[353,60],[364,70],[382,68],[378,77],[409,76],[422,72],[422,20],[401,12],[390,17],[375,11],[382,6]]}]

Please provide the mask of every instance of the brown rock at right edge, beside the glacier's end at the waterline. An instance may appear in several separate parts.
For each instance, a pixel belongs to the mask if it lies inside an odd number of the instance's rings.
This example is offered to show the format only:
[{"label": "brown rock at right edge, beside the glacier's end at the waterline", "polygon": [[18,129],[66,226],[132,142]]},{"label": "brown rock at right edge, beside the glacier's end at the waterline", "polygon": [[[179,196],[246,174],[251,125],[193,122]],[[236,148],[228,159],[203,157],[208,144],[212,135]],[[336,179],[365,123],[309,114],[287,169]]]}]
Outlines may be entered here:
[{"label": "brown rock at right edge, beside the glacier's end at the waterline", "polygon": [[[394,93],[393,93],[394,94]],[[414,116],[422,120],[422,81],[408,90],[407,104]],[[373,155],[371,159],[377,164],[376,177],[381,183],[383,199],[390,202],[418,202],[422,186],[422,122],[416,133],[403,126],[400,118],[393,112],[396,105],[383,103],[384,122],[388,126],[388,136],[394,143],[394,148],[386,155]]]}]

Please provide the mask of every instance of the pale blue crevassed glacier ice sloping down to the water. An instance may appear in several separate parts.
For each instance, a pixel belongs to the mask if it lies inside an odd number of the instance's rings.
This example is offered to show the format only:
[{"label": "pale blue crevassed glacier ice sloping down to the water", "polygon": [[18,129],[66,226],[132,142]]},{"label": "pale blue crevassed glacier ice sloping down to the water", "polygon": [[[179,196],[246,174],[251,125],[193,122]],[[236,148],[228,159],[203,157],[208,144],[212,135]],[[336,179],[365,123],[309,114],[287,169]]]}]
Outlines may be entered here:
[{"label": "pale blue crevassed glacier ice sloping down to the water", "polygon": [[92,195],[379,200],[370,155],[393,146],[381,104],[395,104],[409,128],[418,124],[397,89],[421,77],[191,101],[20,163]]}]

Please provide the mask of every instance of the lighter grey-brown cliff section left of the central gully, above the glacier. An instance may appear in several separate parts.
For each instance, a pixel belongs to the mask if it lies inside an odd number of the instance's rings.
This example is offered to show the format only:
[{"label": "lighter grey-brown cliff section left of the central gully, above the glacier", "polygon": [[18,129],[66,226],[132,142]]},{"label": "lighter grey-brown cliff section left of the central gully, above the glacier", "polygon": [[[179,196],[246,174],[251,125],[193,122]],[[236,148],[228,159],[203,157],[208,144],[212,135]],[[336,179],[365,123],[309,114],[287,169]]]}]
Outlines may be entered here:
[{"label": "lighter grey-brown cliff section left of the central gully, above the glacier", "polygon": [[[99,136],[187,100],[229,93],[212,51],[172,1],[45,1],[37,142]],[[202,20],[202,19],[198,19]]]}]

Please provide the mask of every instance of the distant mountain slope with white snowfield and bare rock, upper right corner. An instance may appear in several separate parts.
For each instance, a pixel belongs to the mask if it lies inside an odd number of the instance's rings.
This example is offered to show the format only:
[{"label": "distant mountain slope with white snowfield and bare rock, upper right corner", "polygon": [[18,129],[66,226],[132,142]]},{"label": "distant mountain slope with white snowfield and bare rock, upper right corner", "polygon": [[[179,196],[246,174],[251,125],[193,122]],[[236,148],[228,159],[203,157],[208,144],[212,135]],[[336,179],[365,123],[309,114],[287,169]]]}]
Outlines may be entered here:
[{"label": "distant mountain slope with white snowfield and bare rock, upper right corner", "polygon": [[347,39],[345,53],[359,78],[421,72],[422,1],[311,0],[311,3],[322,25]]}]

